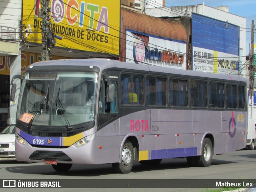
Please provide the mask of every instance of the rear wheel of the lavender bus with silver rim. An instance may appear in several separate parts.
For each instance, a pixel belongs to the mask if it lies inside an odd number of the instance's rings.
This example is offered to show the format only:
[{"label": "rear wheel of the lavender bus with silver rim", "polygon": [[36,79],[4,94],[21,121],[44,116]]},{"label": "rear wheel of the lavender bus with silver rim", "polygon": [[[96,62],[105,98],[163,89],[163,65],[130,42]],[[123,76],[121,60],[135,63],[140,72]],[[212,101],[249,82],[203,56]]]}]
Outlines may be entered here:
[{"label": "rear wheel of the lavender bus with silver rim", "polygon": [[199,167],[208,167],[212,162],[212,142],[209,138],[204,138],[202,154],[197,156],[196,164]]}]

